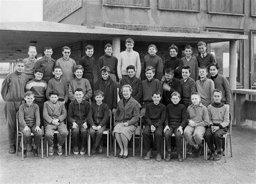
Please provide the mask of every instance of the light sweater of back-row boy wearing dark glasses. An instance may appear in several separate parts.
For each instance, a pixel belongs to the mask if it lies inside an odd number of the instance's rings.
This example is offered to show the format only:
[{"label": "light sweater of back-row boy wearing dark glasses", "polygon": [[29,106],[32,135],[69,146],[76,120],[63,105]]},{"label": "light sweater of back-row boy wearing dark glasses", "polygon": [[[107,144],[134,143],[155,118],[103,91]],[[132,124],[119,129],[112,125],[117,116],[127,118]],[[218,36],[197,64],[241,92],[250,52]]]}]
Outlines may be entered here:
[{"label": "light sweater of back-row boy wearing dark glasses", "polygon": [[76,65],[76,61],[72,58],[66,60],[62,57],[56,61],[56,66],[62,68],[62,79],[64,79],[68,85],[72,79],[75,79],[73,70],[75,69]]}]

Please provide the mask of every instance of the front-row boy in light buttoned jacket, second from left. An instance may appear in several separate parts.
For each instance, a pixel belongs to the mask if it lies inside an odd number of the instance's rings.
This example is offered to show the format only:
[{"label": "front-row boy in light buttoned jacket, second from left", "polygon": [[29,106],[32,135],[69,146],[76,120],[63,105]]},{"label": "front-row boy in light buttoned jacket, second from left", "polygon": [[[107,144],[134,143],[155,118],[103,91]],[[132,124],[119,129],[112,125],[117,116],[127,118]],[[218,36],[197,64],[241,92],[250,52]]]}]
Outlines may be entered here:
[{"label": "front-row boy in light buttoned jacket, second from left", "polygon": [[53,155],[53,132],[57,130],[58,136],[58,155],[62,155],[62,145],[69,132],[66,129],[64,120],[66,118],[66,109],[64,103],[58,101],[59,92],[57,90],[49,91],[50,100],[44,102],[44,126],[45,137],[49,144],[49,155]]}]

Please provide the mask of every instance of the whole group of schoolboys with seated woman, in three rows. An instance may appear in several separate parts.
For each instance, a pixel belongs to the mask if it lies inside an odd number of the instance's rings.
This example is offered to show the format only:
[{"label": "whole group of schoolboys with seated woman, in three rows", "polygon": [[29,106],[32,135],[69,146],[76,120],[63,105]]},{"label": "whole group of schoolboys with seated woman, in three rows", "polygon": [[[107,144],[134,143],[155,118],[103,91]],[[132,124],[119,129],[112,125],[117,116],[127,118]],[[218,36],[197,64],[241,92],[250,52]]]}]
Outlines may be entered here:
[{"label": "whole group of schoolboys with seated woman, in three rows", "polygon": [[[149,55],[144,57],[142,65],[139,53],[133,51],[134,40],[126,39],[125,46],[126,50],[116,58],[112,55],[112,45],[105,45],[105,55],[98,60],[98,80],[95,83],[92,45],[85,47],[86,55],[77,62],[69,57],[71,49],[68,46],[63,47],[63,57],[57,61],[51,58],[53,51],[50,46],[44,48],[45,55],[39,60],[36,60],[36,47],[30,46],[29,58],[17,59],[15,72],[7,75],[2,84],[9,153],[15,153],[18,110],[19,130],[24,133],[24,157],[27,147],[38,157],[42,126],[49,143],[49,155],[53,155],[55,130],[59,131],[57,153],[62,155],[62,145],[68,136],[67,125],[72,132],[74,154],[85,154],[88,132],[93,141],[91,153],[102,153],[102,134],[109,122],[110,109],[116,119],[113,136],[120,147],[119,158],[125,159],[127,145],[138,126],[139,110],[146,108],[143,129],[147,150],[145,160],[152,158],[151,133],[154,133],[156,160],[161,160],[164,134],[168,151],[166,161],[169,161],[172,158],[173,132],[176,135],[178,161],[181,161],[183,132],[196,156],[201,153],[201,142],[205,136],[212,153],[210,159],[221,159],[222,142],[217,138],[220,139],[218,136],[228,129],[226,118],[232,91],[226,78],[218,74],[219,65],[214,56],[207,53],[206,44],[203,41],[198,43],[197,58],[191,56],[193,49],[186,45],[186,56],[181,59],[177,58],[178,47],[172,45],[169,47],[171,58],[164,64],[156,55],[156,45],[151,44],[147,48]],[[211,75],[207,78],[208,70]],[[31,132],[35,138],[30,149]]]}]

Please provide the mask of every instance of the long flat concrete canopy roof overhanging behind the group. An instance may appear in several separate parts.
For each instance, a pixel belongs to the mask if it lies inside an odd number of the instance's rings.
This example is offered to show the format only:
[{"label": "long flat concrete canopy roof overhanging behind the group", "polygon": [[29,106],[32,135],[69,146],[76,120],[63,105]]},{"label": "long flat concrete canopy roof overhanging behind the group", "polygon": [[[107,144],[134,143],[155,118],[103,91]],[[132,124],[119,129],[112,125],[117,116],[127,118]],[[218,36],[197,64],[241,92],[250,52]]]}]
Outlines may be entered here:
[{"label": "long flat concrete canopy roof overhanging behind the group", "polygon": [[[43,47],[62,47],[83,40],[112,40],[119,36],[121,40],[132,37],[136,41],[171,42],[171,43],[217,43],[230,40],[244,40],[247,36],[216,32],[177,33],[151,32],[112,29],[53,23],[53,22],[2,22],[0,23],[0,62],[12,62],[17,58],[28,57],[27,49],[30,41],[37,41],[37,52],[42,53]],[[22,52],[16,53],[19,49]],[[13,54],[12,57],[9,54]],[[8,59],[3,60],[5,57]]]}]

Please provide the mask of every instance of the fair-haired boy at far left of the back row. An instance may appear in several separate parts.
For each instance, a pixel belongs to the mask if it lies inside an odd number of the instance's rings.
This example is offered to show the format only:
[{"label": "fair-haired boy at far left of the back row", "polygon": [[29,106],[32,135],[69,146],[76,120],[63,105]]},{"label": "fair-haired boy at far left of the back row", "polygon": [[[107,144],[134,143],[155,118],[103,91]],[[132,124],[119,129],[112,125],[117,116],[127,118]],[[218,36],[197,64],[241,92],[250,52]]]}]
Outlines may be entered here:
[{"label": "fair-haired boy at far left of the back row", "polygon": [[36,47],[29,46],[28,54],[29,54],[29,58],[24,59],[25,66],[24,66],[23,73],[28,76],[29,80],[32,80],[34,78],[36,55],[37,55]]}]

